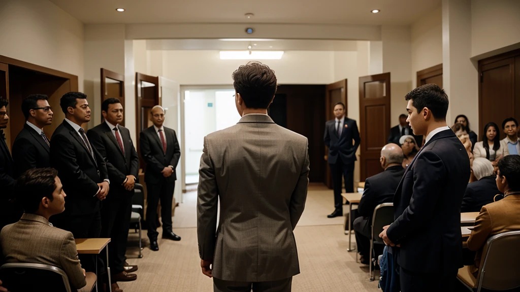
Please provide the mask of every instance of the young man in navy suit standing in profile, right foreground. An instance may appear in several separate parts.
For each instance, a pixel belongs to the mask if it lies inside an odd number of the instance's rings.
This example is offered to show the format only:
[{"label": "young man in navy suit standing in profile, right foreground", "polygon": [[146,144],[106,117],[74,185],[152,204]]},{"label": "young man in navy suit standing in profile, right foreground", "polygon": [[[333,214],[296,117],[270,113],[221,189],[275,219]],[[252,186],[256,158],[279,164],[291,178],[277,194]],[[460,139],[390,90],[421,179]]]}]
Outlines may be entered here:
[{"label": "young man in navy suit standing in profile, right foreground", "polygon": [[446,125],[448,96],[426,84],[406,95],[408,121],[424,147],[407,167],[394,196],[395,221],[380,237],[397,249],[400,286],[452,291],[462,267],[460,206],[470,179],[464,145]]}]

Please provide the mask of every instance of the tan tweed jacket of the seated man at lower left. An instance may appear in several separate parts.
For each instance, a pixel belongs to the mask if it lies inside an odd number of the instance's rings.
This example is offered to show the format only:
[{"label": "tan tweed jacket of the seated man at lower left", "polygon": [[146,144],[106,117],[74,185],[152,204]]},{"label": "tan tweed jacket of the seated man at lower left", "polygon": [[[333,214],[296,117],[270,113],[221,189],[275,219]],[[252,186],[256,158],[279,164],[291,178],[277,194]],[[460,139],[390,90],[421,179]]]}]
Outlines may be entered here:
[{"label": "tan tweed jacket of the seated man at lower left", "polygon": [[53,227],[42,216],[24,213],[18,222],[2,229],[0,243],[5,262],[50,264],[67,274],[72,288],[80,289],[87,284],[74,236]]}]

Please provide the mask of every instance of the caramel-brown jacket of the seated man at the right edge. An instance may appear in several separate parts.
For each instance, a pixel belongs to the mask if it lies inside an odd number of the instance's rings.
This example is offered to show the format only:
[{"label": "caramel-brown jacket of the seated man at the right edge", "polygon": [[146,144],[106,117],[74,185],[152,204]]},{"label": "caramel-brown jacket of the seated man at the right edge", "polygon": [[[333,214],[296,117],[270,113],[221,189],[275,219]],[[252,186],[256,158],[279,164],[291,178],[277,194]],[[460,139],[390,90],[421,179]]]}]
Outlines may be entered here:
[{"label": "caramel-brown jacket of the seated man at the right edge", "polygon": [[467,248],[477,251],[475,267],[470,271],[475,273],[480,267],[480,257],[488,238],[492,235],[520,230],[520,193],[506,195],[502,200],[487,204],[480,209],[475,220],[475,226],[467,239]]}]

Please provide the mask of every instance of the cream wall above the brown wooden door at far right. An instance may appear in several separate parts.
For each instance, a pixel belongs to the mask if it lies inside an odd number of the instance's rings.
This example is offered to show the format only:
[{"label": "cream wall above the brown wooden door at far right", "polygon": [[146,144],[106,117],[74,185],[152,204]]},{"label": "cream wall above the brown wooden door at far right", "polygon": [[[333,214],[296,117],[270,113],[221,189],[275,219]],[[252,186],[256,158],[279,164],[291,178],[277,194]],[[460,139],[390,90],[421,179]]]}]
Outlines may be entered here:
[{"label": "cream wall above the brown wooden door at far right", "polygon": [[520,47],[520,1],[472,0],[471,57],[512,45],[504,51]]}]

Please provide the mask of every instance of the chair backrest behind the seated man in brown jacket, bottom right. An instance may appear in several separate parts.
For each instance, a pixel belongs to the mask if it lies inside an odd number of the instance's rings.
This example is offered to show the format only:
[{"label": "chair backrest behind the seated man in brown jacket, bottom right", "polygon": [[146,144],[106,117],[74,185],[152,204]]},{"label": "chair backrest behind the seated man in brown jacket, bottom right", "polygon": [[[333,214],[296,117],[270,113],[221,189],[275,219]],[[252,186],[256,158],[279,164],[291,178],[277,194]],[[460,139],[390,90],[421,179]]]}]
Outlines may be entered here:
[{"label": "chair backrest behind the seated man in brown jacket, bottom right", "polygon": [[518,246],[520,231],[499,233],[488,238],[477,275],[479,286],[490,290],[520,287]]}]

